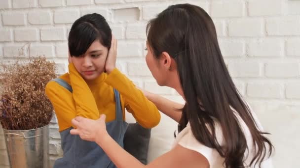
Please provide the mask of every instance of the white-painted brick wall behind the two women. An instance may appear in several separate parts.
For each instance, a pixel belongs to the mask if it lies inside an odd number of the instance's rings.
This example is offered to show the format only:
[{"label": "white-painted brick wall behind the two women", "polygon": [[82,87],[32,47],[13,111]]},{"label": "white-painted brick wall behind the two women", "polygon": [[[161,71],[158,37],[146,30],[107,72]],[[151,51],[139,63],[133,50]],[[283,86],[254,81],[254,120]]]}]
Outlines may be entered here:
[{"label": "white-painted brick wall behind the two women", "polygon": [[[236,87],[272,133],[275,167],[300,167],[300,148],[293,145],[300,141],[300,0],[0,0],[0,59],[45,55],[63,74],[72,23],[97,12],[118,39],[117,67],[140,87],[182,102],[174,89],[155,83],[144,57],[147,21],[178,2],[199,5],[212,16]],[[62,155],[57,129],[54,118],[51,165]],[[0,168],[8,168],[1,132]]]}]

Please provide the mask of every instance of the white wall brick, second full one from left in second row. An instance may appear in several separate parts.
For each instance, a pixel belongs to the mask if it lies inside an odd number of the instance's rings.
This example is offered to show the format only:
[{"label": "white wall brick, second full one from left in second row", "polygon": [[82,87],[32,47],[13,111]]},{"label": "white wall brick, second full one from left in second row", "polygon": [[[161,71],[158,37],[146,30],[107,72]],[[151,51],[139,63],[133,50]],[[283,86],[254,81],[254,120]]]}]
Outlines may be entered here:
[{"label": "white wall brick, second full one from left in second row", "polygon": [[28,13],[28,23],[31,25],[47,25],[52,23],[50,11],[33,11]]}]

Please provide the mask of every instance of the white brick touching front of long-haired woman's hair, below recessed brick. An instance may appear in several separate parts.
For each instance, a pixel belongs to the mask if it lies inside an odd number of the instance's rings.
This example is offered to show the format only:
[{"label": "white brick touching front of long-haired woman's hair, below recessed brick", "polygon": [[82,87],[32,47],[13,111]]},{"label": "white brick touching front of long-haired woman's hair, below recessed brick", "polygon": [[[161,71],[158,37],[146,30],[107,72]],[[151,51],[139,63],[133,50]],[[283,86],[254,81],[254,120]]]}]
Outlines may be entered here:
[{"label": "white brick touching front of long-haired woman's hair, below recessed brick", "polygon": [[132,25],[126,28],[126,39],[146,39],[146,26]]}]

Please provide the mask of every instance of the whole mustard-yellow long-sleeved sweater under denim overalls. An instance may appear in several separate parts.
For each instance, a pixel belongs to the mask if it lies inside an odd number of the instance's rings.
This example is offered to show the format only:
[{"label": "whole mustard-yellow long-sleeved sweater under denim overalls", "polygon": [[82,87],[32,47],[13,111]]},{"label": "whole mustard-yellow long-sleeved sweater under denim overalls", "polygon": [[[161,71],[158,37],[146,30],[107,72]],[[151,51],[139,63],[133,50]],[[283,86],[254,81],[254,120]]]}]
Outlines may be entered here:
[{"label": "whole mustard-yellow long-sleeved sweater under denim overalls", "polygon": [[72,127],[71,120],[75,116],[98,119],[100,114],[106,114],[106,122],[114,120],[113,88],[120,93],[124,120],[126,108],[145,128],[154,127],[160,121],[160,113],[155,105],[116,68],[109,75],[102,73],[93,81],[84,81],[73,63],[70,63],[69,73],[59,78],[70,84],[73,89],[71,93],[54,81],[46,85],[45,92],[56,113],[59,131]]}]

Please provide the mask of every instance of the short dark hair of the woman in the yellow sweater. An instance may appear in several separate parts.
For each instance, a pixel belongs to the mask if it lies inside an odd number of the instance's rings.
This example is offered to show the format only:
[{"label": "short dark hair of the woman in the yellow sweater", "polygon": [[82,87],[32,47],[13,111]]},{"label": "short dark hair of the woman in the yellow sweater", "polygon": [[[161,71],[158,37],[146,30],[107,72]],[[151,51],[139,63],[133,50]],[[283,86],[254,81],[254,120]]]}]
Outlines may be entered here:
[{"label": "short dark hair of the woman in the yellow sweater", "polygon": [[110,49],[112,30],[105,18],[98,13],[78,18],[68,37],[70,55],[83,55],[95,40],[99,40],[104,47]]}]

